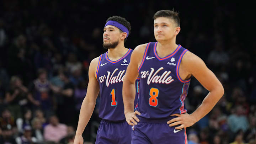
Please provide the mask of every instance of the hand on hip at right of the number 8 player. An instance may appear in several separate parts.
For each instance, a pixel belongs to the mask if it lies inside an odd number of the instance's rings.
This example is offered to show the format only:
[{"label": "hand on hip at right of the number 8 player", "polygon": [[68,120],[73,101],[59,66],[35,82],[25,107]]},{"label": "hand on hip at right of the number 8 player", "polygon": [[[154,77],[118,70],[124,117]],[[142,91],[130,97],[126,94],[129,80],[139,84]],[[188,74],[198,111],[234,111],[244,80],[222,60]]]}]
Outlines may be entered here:
[{"label": "hand on hip at right of the number 8 player", "polygon": [[177,116],[177,117],[167,122],[167,124],[169,124],[169,127],[177,126],[180,124],[180,126],[175,127],[175,129],[187,128],[192,126],[194,123],[196,123],[196,119],[193,116],[191,116],[191,114],[188,114],[188,113],[172,114],[171,116]]}]

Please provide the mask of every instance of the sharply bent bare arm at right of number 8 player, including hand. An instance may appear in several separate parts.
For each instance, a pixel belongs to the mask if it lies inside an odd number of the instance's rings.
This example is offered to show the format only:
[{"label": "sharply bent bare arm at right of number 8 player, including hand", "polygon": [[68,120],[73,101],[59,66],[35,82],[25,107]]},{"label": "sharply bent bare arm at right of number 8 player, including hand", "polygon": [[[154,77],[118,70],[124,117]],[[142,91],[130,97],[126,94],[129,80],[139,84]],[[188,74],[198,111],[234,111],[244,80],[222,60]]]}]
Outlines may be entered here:
[{"label": "sharply bent bare arm at right of number 8 player, including hand", "polygon": [[207,68],[201,58],[188,51],[184,54],[181,61],[180,76],[182,79],[186,79],[191,74],[209,91],[209,93],[204,98],[202,104],[192,114],[172,115],[177,116],[177,118],[171,119],[167,124],[169,124],[170,127],[180,124],[180,126],[175,127],[175,129],[192,126],[209,113],[224,94],[223,86],[214,73]]}]

